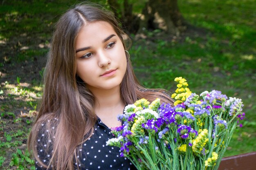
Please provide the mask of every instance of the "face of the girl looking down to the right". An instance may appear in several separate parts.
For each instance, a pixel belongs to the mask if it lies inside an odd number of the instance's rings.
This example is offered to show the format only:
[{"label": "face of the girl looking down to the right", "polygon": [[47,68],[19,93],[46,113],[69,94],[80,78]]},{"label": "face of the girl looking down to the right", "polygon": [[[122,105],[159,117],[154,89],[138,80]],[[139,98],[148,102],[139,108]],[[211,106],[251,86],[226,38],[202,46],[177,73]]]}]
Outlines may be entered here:
[{"label": "face of the girl looking down to the right", "polygon": [[76,38],[76,73],[90,90],[119,88],[126,73],[124,46],[105,21],[85,24]]}]

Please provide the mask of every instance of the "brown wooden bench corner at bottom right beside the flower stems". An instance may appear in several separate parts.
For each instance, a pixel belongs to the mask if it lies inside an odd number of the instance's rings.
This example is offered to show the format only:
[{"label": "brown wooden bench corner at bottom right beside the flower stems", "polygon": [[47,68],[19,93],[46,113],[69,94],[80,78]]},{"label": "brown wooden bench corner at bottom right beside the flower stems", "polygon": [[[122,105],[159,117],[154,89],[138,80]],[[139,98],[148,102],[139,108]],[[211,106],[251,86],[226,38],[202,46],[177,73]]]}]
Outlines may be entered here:
[{"label": "brown wooden bench corner at bottom right beside the flower stems", "polygon": [[218,170],[256,170],[256,152],[222,158]]}]

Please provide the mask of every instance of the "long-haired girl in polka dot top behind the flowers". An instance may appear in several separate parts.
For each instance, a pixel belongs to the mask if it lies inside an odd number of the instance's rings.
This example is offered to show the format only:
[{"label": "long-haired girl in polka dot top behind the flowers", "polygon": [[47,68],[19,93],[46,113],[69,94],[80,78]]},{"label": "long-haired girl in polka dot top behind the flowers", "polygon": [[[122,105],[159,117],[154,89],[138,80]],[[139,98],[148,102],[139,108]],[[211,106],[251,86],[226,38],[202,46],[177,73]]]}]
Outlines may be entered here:
[{"label": "long-haired girl in polka dot top behind the flowers", "polygon": [[68,10],[57,22],[45,67],[43,99],[29,134],[36,169],[132,170],[119,148],[106,146],[110,128],[127,104],[164,90],[140,86],[115,17],[89,5]]}]

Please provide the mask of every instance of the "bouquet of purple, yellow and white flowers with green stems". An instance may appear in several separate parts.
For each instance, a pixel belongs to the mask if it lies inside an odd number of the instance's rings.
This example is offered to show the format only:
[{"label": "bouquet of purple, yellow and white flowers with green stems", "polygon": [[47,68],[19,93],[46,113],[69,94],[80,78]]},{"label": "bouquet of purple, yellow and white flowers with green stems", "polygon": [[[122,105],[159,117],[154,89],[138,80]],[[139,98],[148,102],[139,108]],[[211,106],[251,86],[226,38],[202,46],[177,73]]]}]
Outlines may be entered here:
[{"label": "bouquet of purple, yellow and white flowers with green stems", "polygon": [[[125,107],[112,129],[118,146],[138,170],[217,170],[239,120],[243,102],[220,91],[191,93],[186,79],[175,78],[172,104],[140,99]],[[202,99],[199,99],[202,97]]]}]

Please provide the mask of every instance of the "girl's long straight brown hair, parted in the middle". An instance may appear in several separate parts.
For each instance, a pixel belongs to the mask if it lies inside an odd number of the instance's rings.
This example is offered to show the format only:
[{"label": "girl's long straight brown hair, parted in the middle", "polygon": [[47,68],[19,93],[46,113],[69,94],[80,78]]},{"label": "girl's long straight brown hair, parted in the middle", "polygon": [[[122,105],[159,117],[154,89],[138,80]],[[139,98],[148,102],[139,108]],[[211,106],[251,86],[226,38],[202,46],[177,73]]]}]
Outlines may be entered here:
[{"label": "girl's long straight brown hair, parted in the middle", "polygon": [[[85,22],[96,21],[111,24],[127,49],[124,40],[126,34],[119,23],[112,13],[99,7],[77,5],[56,23],[45,67],[43,99],[28,139],[29,150],[33,151],[36,161],[45,168],[52,166],[54,170],[72,170],[78,146],[92,135],[97,119],[94,113],[95,98],[76,75],[75,40]],[[161,98],[162,102],[172,102],[166,91],[146,89],[139,85],[129,59],[120,88],[125,104],[132,104],[140,98],[153,101],[156,97]],[[48,152],[51,153],[48,165],[37,156],[40,148],[38,133],[42,125],[47,129],[47,141],[51,141],[48,146]],[[78,164],[78,160],[75,160]]]}]

